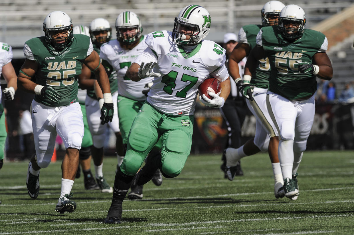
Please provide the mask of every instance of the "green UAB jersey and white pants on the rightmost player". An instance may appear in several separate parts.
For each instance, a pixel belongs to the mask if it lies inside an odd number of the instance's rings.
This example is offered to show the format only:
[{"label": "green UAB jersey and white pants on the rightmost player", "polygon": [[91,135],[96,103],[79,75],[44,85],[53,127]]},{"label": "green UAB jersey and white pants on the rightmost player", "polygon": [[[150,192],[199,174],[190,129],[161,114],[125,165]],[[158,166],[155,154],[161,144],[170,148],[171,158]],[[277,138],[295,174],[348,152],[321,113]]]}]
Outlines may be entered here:
[{"label": "green UAB jersey and white pants on the rightmost player", "polygon": [[298,72],[296,61],[312,64],[316,53],[327,50],[327,38],[305,29],[301,38],[287,42],[276,26],[268,26],[259,31],[257,44],[263,47],[272,68],[267,104],[280,139],[294,140],[293,151],[303,152],[314,119],[317,84],[314,74]]}]

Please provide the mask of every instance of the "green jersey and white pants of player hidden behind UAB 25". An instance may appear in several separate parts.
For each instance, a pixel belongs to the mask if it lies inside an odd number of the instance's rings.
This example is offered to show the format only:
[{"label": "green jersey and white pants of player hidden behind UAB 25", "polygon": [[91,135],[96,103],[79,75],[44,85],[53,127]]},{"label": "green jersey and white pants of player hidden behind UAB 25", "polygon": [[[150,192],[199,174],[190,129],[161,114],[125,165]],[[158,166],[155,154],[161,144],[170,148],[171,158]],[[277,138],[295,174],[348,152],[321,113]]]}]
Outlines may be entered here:
[{"label": "green jersey and white pants of player hidden behind UAB 25", "polygon": [[[94,46],[93,49],[98,54],[101,54],[99,48]],[[101,57],[101,55],[100,55],[100,57]],[[116,74],[116,71],[114,71],[110,68],[107,68],[107,63],[104,63],[102,61],[102,65],[105,67],[108,78],[109,78],[110,91],[111,91],[112,99],[113,99],[113,109],[117,110],[118,109],[117,102],[115,102],[118,97],[117,74]],[[93,76],[95,76],[95,75],[93,75]],[[113,132],[115,132],[115,133],[120,132],[118,113],[114,112],[112,122],[108,122],[104,125],[101,125],[101,119],[100,119],[101,109],[99,108],[99,103],[98,103],[95,91],[93,89],[87,90],[85,105],[86,105],[87,122],[89,123],[89,128],[90,128],[90,132],[92,135],[93,146],[95,146],[97,149],[100,149],[104,145],[104,141],[105,141],[104,131],[105,131],[107,125],[113,130]]]}]

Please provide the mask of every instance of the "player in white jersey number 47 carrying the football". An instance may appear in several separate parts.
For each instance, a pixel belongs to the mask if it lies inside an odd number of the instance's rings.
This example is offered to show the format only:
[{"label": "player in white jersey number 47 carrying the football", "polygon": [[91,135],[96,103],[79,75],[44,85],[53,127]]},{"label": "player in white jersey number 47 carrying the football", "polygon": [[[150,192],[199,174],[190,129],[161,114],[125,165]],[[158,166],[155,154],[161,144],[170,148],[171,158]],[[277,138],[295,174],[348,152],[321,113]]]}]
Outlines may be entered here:
[{"label": "player in white jersey number 47 carrying the football", "polygon": [[172,32],[155,31],[147,35],[148,48],[129,67],[127,76],[133,81],[154,79],[147,101],[130,129],[127,152],[115,176],[112,204],[105,223],[121,222],[122,201],[133,176],[160,137],[161,157],[147,159],[138,173],[137,184],[150,180],[151,173],[158,168],[167,178],[181,173],[192,145],[198,86],[209,77],[220,81],[220,96],[209,92],[213,99],[204,94],[200,97],[209,107],[222,107],[228,97],[230,81],[225,50],[215,42],[204,40],[210,24],[210,14],[204,7],[184,7],[175,18]]}]

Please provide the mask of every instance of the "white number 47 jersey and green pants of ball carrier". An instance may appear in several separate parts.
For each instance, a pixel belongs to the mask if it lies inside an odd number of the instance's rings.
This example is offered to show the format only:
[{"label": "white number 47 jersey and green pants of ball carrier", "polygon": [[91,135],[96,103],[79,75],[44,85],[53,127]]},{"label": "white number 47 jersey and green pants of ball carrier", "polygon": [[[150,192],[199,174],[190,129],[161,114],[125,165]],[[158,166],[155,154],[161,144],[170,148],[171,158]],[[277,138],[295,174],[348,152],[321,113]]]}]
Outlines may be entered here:
[{"label": "white number 47 jersey and green pants of ball carrier", "polygon": [[228,78],[224,49],[212,41],[201,41],[190,53],[173,43],[172,32],[148,34],[148,48],[134,61],[157,62],[147,102],[133,121],[121,171],[133,176],[148,152],[162,138],[161,170],[176,177],[181,173],[192,145],[194,107],[198,86],[212,76]]}]

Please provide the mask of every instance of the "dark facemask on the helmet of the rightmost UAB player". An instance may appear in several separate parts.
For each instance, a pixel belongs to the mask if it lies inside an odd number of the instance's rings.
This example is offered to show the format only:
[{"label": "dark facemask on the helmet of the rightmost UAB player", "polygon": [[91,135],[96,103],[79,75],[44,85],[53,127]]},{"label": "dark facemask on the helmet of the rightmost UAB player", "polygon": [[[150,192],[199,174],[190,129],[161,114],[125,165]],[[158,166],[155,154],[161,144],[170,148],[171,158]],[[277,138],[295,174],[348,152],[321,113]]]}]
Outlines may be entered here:
[{"label": "dark facemask on the helmet of the rightmost UAB player", "polygon": [[[286,27],[288,24],[297,24],[297,28]],[[304,33],[304,20],[301,19],[292,19],[292,18],[280,18],[278,29],[282,35],[289,41],[295,41],[300,38]]]}]

